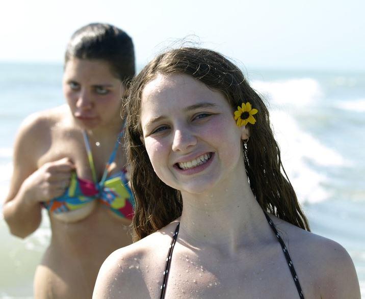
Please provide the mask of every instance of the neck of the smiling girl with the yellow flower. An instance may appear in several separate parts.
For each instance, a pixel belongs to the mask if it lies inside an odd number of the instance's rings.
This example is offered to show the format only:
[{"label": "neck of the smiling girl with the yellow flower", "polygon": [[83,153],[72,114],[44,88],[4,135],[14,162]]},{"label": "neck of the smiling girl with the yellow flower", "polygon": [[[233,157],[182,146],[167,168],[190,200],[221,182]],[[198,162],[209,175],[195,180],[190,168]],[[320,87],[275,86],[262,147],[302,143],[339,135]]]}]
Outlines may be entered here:
[{"label": "neck of the smiling girl with the yellow flower", "polygon": [[233,253],[267,228],[246,176],[244,181],[219,184],[209,193],[182,195],[180,232],[190,246],[205,243]]}]

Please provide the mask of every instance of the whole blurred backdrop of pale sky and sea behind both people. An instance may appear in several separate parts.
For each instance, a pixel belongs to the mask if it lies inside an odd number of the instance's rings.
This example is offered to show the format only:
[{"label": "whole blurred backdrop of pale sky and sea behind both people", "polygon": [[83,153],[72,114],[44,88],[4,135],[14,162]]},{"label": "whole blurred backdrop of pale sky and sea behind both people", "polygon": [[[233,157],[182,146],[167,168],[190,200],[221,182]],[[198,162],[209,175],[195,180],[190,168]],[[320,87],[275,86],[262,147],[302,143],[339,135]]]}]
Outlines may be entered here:
[{"label": "whole blurred backdrop of pale sky and sea behind both people", "polygon": [[[0,13],[1,201],[21,121],[64,103],[63,56],[76,29],[108,22],[125,30],[137,71],[161,50],[192,41],[239,65],[266,98],[312,231],[347,249],[365,295],[364,11],[361,0],[7,2]],[[24,240],[0,216],[0,297],[32,297],[49,237],[46,214]]]}]

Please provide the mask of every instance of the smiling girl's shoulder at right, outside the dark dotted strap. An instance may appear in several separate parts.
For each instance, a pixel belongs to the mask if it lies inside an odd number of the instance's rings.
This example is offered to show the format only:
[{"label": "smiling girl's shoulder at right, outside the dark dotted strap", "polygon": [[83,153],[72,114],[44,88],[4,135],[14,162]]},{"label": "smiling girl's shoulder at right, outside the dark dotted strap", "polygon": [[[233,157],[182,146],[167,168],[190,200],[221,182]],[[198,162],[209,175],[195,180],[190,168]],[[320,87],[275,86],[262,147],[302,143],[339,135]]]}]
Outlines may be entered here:
[{"label": "smiling girl's shoulder at right, outside the dark dotted strap", "polygon": [[352,259],[341,244],[271,216],[298,277],[322,298],[360,298]]}]

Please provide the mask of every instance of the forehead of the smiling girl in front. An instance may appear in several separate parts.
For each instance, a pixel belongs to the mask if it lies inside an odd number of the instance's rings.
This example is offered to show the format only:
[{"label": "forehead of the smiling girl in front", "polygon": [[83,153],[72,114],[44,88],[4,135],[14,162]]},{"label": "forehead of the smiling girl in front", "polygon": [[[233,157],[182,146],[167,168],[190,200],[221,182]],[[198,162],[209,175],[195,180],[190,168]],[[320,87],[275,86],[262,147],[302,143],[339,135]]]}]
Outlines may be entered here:
[{"label": "forehead of the smiling girl in front", "polygon": [[228,105],[219,91],[208,88],[187,74],[159,74],[142,91],[141,114],[162,114],[169,110],[181,110],[198,102]]}]

